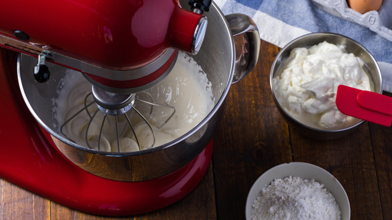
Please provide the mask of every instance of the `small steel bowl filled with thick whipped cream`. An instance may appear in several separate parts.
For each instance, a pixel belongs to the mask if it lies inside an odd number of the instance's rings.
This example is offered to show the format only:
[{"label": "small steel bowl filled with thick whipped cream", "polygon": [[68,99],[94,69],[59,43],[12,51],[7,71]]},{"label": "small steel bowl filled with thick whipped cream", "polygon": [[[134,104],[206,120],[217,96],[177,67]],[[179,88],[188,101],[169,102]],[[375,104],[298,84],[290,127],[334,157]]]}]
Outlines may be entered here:
[{"label": "small steel bowl filled with thick whipped cream", "polygon": [[271,68],[274,102],[301,134],[316,139],[343,137],[364,121],[336,106],[339,85],[382,92],[381,72],[358,42],[334,33],[312,33],[288,43]]}]

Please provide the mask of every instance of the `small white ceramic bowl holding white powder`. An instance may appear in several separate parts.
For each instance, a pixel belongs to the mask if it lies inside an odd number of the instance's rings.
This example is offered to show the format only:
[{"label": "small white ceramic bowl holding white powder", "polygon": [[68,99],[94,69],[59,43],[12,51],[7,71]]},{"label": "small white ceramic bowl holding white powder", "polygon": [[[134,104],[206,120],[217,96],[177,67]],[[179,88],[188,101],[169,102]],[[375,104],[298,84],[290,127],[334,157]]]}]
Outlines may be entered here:
[{"label": "small white ceramic bowl holding white powder", "polygon": [[342,212],[342,220],[350,219],[350,202],[346,191],[339,181],[328,171],[309,163],[291,162],[272,167],[263,173],[253,184],[246,200],[246,219],[252,219],[252,205],[258,197],[261,189],[268,186],[274,179],[288,176],[297,176],[304,179],[314,179],[316,182],[324,184],[324,187],[335,197],[336,202]]}]

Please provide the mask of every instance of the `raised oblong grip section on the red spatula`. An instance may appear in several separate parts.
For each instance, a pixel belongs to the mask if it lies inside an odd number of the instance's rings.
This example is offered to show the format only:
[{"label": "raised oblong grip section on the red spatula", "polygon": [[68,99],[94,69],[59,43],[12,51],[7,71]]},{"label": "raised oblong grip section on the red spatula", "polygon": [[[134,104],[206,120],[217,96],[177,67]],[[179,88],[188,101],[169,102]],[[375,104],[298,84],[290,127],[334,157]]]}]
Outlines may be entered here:
[{"label": "raised oblong grip section on the red spatula", "polygon": [[362,90],[357,94],[357,103],[371,111],[392,116],[392,97]]}]

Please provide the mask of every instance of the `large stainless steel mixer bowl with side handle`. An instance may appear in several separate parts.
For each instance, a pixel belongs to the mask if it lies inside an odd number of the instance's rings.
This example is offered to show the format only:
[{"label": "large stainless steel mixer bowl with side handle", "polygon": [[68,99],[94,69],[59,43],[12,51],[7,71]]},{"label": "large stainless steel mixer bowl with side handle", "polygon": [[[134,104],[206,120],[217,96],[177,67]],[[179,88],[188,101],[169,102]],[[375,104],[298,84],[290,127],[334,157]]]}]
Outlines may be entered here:
[{"label": "large stainless steel mixer bowl with side handle", "polygon": [[[187,1],[180,1],[187,7]],[[19,84],[30,112],[47,130],[56,147],[80,168],[108,179],[142,181],[170,174],[199,155],[212,140],[219,119],[223,115],[230,84],[244,77],[256,65],[260,38],[253,21],[242,14],[224,16],[215,3],[205,13],[208,18],[206,38],[193,59],[207,73],[212,83],[215,106],[195,128],[180,138],[152,149],[112,153],[88,149],[67,140],[54,120],[52,105],[66,68],[47,63],[51,78],[46,83],[34,81],[33,68],[37,59],[21,55]],[[233,35],[245,38],[243,53],[236,58]],[[191,92],[191,91],[189,91]],[[61,171],[59,171],[61,172]]]}]

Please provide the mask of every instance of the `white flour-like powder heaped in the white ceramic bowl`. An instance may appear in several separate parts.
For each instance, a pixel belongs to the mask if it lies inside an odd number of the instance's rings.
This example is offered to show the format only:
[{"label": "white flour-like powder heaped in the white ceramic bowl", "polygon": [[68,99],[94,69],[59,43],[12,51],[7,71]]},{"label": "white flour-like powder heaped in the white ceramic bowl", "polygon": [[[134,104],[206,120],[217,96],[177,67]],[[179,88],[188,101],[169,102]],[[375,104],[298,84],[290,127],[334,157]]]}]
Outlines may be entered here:
[{"label": "white flour-like powder heaped in the white ceramic bowl", "polygon": [[252,206],[256,219],[341,219],[341,211],[323,184],[289,176],[261,190]]}]

